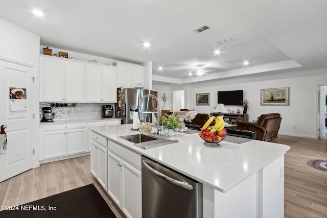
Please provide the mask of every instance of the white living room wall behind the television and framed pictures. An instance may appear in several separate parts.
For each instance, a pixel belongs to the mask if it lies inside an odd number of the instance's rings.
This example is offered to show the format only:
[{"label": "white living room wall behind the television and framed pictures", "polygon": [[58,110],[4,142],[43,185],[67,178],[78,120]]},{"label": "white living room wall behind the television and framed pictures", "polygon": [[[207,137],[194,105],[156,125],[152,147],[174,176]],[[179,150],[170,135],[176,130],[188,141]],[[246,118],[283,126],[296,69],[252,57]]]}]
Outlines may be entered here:
[{"label": "white living room wall behind the television and framed pictures", "polygon": [[[280,113],[283,117],[278,134],[317,138],[318,85],[327,84],[327,68],[298,70],[256,77],[223,79],[215,82],[184,85],[185,108],[210,113],[217,105],[217,91],[243,89],[243,98],[249,101],[249,121],[265,113]],[[170,86],[165,86],[166,90]],[[289,87],[289,105],[260,105],[260,89]],[[157,86],[153,86],[155,90]],[[160,87],[164,89],[164,86]],[[181,86],[170,87],[180,90]],[[196,105],[196,93],[210,93],[209,106]],[[169,93],[166,91],[166,94]],[[160,95],[159,95],[160,96]],[[170,99],[171,96],[168,95]],[[237,106],[226,109],[237,110]],[[242,108],[240,108],[242,111]],[[294,128],[295,127],[295,128]]]}]

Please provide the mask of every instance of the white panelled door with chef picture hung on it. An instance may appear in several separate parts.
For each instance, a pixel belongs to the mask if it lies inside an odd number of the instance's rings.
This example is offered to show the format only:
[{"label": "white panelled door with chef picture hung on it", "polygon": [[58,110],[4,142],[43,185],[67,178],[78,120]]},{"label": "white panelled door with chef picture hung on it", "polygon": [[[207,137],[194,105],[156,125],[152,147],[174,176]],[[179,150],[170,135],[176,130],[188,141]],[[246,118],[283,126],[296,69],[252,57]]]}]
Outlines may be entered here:
[{"label": "white panelled door with chef picture hung on it", "polygon": [[[8,145],[7,152],[0,154],[0,182],[33,168],[36,134],[33,70],[0,60],[0,126],[7,126]],[[24,91],[22,99],[11,99],[15,96],[10,90],[15,88]]]}]

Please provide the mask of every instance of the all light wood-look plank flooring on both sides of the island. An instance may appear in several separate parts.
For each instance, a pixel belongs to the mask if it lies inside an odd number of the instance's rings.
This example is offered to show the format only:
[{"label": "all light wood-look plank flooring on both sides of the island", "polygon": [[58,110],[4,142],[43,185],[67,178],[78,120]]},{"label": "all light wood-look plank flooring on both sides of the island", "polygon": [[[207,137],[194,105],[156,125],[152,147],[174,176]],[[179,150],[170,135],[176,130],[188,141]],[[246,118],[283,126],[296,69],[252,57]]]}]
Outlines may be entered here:
[{"label": "all light wood-look plank flooring on both sides of the island", "polygon": [[[285,155],[286,218],[327,217],[327,172],[307,164],[327,160],[327,140],[278,135],[272,142],[287,144]],[[0,183],[0,205],[20,205],[94,183],[118,217],[125,217],[90,173],[90,156],[41,164]]]}]

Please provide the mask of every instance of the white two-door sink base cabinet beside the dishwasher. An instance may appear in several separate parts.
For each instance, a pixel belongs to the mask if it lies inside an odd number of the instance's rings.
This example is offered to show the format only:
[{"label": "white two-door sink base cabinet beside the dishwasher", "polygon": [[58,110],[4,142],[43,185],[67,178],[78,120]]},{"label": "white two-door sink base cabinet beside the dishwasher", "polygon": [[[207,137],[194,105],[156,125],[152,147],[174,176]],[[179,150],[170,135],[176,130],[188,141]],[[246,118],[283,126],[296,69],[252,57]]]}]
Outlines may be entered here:
[{"label": "white two-door sink base cabinet beside the dishwasher", "polygon": [[127,217],[142,217],[141,155],[108,140],[108,194]]}]

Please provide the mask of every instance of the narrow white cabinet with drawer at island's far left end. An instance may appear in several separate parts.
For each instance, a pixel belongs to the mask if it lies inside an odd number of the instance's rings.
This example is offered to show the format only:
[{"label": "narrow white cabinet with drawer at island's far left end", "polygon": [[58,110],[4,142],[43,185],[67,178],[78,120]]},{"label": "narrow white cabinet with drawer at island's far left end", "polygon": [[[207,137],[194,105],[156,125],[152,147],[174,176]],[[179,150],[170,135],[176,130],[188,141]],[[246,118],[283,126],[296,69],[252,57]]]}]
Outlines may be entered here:
[{"label": "narrow white cabinet with drawer at island's far left end", "polygon": [[91,173],[107,190],[107,138],[91,132]]}]

